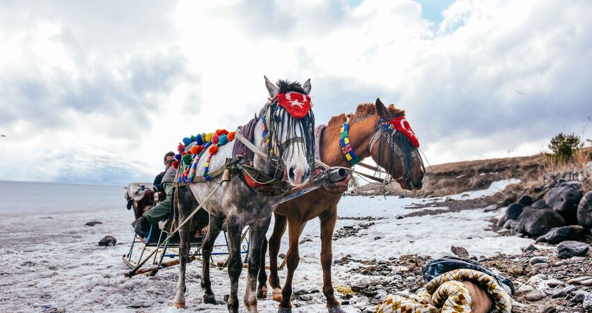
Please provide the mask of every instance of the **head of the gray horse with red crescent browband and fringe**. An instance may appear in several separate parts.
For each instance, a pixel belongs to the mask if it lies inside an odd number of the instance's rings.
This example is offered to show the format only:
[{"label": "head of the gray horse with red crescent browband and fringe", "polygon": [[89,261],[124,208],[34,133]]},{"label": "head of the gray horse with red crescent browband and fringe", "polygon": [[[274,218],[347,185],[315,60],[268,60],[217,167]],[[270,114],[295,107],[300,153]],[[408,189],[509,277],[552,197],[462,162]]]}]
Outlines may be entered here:
[{"label": "head of the gray horse with red crescent browband and fringe", "polygon": [[276,84],[265,77],[270,102],[260,112],[263,125],[261,145],[268,160],[287,176],[288,182],[299,186],[309,179],[314,165],[314,124],[311,110],[311,80],[303,85],[279,80]]}]

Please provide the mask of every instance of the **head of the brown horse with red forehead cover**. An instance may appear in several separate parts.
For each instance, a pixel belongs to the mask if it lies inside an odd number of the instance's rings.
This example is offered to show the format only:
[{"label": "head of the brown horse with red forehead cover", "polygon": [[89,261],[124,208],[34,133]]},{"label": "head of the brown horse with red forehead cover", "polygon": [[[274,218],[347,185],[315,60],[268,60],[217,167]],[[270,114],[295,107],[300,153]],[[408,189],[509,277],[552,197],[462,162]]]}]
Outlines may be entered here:
[{"label": "head of the brown horse with red forehead cover", "polygon": [[419,154],[417,140],[405,111],[388,108],[376,99],[378,122],[370,143],[372,159],[396,180],[403,189],[416,190],[423,186],[426,168]]}]

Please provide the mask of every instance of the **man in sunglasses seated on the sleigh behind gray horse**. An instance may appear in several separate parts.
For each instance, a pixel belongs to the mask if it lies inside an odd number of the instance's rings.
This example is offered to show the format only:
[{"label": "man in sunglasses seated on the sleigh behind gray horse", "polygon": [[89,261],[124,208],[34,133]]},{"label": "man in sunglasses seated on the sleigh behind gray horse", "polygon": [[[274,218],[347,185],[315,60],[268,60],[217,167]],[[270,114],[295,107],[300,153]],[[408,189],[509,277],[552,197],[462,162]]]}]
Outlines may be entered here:
[{"label": "man in sunglasses seated on the sleigh behind gray horse", "polygon": [[[150,231],[150,225],[157,225],[159,220],[169,217],[171,212],[171,198],[173,196],[173,182],[177,174],[177,169],[172,166],[175,161],[175,154],[169,152],[164,156],[164,163],[166,165],[166,171],[162,175],[160,180],[160,186],[166,193],[166,198],[159,202],[155,207],[144,212],[140,218],[134,224],[134,230],[136,234],[141,237],[146,237]],[[155,179],[157,183],[158,176]]]}]

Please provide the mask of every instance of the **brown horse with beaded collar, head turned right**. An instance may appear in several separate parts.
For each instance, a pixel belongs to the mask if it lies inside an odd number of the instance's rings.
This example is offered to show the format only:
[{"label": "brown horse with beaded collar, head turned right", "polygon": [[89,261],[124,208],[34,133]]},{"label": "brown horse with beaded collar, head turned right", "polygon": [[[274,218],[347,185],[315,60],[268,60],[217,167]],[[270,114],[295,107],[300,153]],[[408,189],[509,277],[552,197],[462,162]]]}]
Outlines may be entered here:
[{"label": "brown horse with beaded collar, head turned right", "polygon": [[[320,136],[320,159],[329,166],[351,168],[352,164],[342,154],[339,139],[341,127],[349,121],[349,140],[359,159],[372,157],[382,168],[387,170],[402,188],[407,190],[420,189],[423,184],[425,168],[418,149],[410,145],[410,140],[401,136],[400,131],[383,127],[395,118],[405,115],[405,111],[395,109],[394,105],[387,109],[380,99],[375,104],[360,104],[353,115],[341,114],[327,123],[327,128]],[[388,125],[387,125],[388,126]],[[407,125],[408,126],[408,125]],[[331,280],[331,263],[333,258],[332,236],[337,219],[337,204],[343,193],[319,188],[299,198],[280,204],[274,211],[275,222],[270,245],[270,284],[273,298],[281,301],[279,312],[291,312],[292,280],[300,259],[298,252],[299,236],[304,225],[313,218],[320,219],[321,252],[320,262],[323,271],[322,292],[327,298],[329,312],[343,312],[336,300]],[[283,289],[280,287],[277,273],[277,257],[281,236],[286,232],[286,221],[290,243],[286,254],[288,275]],[[265,249],[266,244],[263,244]],[[258,296],[267,296],[267,275],[265,273],[265,250],[263,250],[258,281]]]}]

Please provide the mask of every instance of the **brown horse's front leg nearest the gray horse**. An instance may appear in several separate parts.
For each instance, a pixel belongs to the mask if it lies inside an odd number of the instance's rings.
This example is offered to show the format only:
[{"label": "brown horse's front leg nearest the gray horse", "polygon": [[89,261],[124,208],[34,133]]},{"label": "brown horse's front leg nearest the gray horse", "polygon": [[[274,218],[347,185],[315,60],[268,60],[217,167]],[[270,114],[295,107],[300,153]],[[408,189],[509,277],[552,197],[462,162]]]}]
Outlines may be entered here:
[{"label": "brown horse's front leg nearest the gray horse", "polygon": [[306,223],[301,223],[299,220],[288,220],[288,236],[290,237],[290,247],[286,253],[288,275],[286,275],[286,283],[283,285],[281,291],[281,302],[279,303],[279,313],[292,312],[292,303],[290,297],[292,296],[292,280],[294,272],[300,262],[300,253],[298,251],[298,239],[302,230],[304,230]]}]

